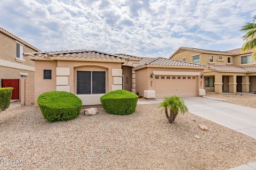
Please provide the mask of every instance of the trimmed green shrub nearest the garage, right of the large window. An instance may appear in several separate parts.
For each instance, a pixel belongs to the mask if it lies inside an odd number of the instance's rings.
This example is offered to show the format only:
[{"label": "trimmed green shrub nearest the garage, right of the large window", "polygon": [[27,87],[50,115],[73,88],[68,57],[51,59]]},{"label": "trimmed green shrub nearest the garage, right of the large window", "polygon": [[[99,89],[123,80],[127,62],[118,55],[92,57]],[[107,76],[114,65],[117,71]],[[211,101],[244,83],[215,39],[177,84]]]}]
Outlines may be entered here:
[{"label": "trimmed green shrub nearest the garage, right of the large window", "polygon": [[130,91],[115,90],[100,98],[105,111],[115,115],[129,115],[135,111],[138,96]]}]

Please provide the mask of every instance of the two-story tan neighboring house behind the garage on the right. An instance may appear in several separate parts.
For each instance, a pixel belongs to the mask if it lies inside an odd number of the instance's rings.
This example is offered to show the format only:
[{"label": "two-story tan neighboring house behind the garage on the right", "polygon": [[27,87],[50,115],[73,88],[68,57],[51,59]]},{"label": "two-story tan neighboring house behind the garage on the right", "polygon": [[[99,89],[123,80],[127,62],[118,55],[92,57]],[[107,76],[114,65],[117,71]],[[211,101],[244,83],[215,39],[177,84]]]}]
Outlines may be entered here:
[{"label": "two-story tan neighboring house behind the garage on the right", "polygon": [[252,50],[217,51],[180,47],[171,59],[204,64],[204,89],[209,92],[255,92],[256,63]]}]

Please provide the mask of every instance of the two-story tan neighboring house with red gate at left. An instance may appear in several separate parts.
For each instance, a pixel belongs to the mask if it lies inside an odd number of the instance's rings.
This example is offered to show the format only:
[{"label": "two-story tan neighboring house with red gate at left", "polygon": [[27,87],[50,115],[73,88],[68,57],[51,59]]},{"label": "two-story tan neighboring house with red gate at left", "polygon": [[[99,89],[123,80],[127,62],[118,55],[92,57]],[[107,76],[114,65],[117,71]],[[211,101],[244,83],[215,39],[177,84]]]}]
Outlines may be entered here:
[{"label": "two-story tan neighboring house with red gate at left", "polygon": [[[25,102],[25,80],[31,79],[27,95],[34,96],[34,61],[23,52],[39,52],[36,47],[0,27],[0,87],[13,87],[12,99]],[[30,94],[29,94],[30,92]],[[30,97],[29,97],[30,98]],[[29,100],[28,103],[31,104]],[[34,101],[33,101],[34,102]]]}]

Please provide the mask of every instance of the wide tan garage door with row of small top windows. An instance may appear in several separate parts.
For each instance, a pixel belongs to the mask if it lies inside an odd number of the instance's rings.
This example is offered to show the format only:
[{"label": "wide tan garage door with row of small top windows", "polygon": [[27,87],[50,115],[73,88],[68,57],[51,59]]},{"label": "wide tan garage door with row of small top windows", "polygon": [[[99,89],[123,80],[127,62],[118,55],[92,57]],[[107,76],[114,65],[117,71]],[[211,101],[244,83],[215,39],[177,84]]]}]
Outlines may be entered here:
[{"label": "wide tan garage door with row of small top windows", "polygon": [[170,97],[194,97],[197,92],[197,77],[177,75],[156,75],[156,98]]}]

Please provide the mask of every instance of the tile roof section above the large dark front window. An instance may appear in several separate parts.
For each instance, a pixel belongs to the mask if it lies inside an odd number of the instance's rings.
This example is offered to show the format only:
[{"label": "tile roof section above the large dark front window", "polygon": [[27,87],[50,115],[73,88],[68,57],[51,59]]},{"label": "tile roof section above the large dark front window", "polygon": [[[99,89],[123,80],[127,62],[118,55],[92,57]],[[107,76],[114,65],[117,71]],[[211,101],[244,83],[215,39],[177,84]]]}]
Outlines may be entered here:
[{"label": "tile roof section above the large dark front window", "polygon": [[103,53],[97,50],[77,49],[77,50],[61,50],[50,52],[32,52],[24,53],[24,55],[30,60],[75,60],[75,59],[97,59],[97,60],[118,60],[123,62],[125,58],[121,58],[117,55],[110,53]]}]

